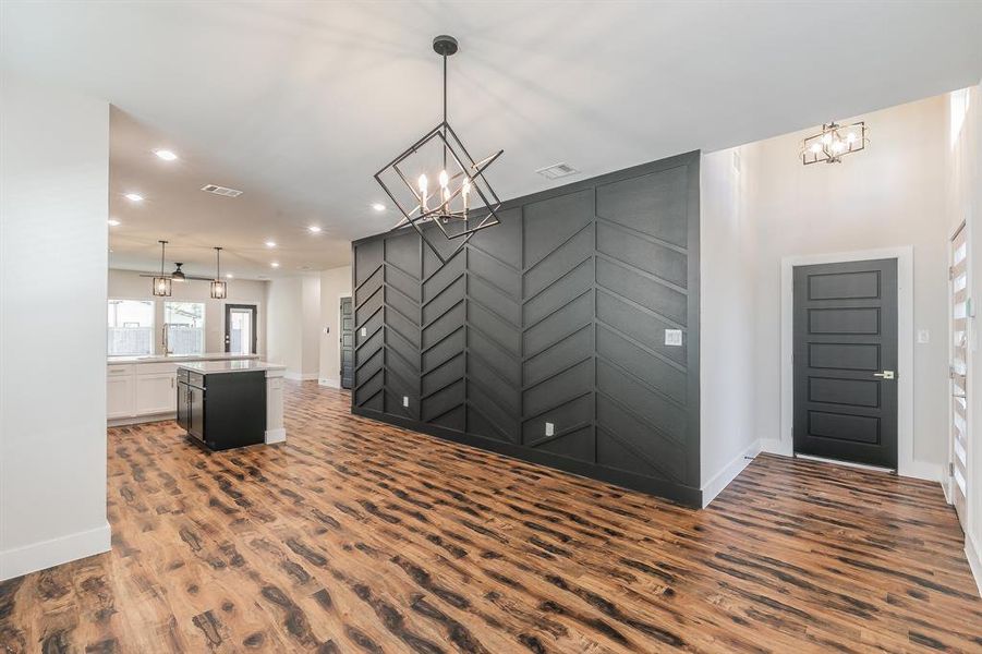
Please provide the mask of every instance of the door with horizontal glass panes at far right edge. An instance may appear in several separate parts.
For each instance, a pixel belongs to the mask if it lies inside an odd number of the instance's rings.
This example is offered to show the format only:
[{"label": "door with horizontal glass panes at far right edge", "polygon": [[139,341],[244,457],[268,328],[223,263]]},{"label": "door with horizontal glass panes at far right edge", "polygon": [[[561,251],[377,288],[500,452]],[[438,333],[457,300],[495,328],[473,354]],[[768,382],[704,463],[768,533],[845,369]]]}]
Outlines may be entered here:
[{"label": "door with horizontal glass panes at far right edge", "polygon": [[968,479],[968,244],[966,229],[951,239],[951,499],[961,524],[966,524],[966,480]]}]

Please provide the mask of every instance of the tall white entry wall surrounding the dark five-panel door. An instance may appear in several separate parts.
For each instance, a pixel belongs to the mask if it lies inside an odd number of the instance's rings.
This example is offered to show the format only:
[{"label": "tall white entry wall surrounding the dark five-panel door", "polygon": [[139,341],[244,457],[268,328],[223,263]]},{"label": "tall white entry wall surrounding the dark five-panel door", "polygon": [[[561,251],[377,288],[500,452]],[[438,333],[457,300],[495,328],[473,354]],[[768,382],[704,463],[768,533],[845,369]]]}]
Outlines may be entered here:
[{"label": "tall white entry wall surrounding the dark five-panel door", "polygon": [[871,142],[839,165],[801,165],[798,152],[809,132],[741,148],[743,174],[753,180],[747,210],[757,247],[754,415],[765,448],[790,452],[780,426],[781,257],[910,245],[914,330],[931,335],[930,343],[914,346],[912,470],[942,479],[948,424],[945,113],[939,96],[860,117]]}]

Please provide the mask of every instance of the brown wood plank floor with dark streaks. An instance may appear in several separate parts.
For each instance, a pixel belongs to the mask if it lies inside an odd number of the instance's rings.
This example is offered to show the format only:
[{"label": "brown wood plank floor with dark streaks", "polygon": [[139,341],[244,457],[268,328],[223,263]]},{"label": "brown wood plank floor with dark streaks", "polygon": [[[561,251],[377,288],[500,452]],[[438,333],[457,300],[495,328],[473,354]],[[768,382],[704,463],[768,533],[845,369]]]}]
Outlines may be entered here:
[{"label": "brown wood plank floor with dark streaks", "polygon": [[109,431],[110,554],[0,584],[7,652],[982,651],[937,484],[757,458],[710,509],[288,385],[288,443]]}]

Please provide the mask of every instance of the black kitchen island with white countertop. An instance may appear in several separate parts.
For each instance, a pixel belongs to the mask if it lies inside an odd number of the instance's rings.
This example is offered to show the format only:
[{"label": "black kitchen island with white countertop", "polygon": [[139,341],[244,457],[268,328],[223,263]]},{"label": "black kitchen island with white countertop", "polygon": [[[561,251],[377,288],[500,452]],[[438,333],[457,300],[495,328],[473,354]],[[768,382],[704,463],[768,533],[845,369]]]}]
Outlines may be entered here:
[{"label": "black kitchen island with white countertop", "polygon": [[286,440],[284,372],[252,360],[179,364],[178,424],[211,450]]}]

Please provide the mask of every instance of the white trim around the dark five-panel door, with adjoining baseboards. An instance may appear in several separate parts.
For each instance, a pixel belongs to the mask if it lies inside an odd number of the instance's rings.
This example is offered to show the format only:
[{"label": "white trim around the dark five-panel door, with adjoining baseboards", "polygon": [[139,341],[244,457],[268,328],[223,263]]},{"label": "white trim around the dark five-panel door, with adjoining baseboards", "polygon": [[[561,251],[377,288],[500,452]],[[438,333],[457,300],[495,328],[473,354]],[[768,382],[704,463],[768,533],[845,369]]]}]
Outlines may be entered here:
[{"label": "white trim around the dark five-panel door, with adjoining baseboards", "polygon": [[780,259],[780,439],[763,449],[790,457],[795,451],[795,267],[871,259],[897,259],[897,473],[941,481],[935,464],[913,459],[913,246],[786,256]]}]

